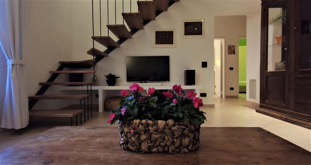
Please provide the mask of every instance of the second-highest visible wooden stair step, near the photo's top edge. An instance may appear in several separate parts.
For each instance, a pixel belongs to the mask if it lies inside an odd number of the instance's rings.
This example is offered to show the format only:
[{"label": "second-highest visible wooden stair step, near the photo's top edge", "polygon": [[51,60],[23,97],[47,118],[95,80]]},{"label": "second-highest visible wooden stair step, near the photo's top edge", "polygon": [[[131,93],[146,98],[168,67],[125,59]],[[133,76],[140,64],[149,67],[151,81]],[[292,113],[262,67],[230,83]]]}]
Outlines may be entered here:
[{"label": "second-highest visible wooden stair step, near the photo's top edge", "polygon": [[142,20],[156,19],[156,5],[153,1],[137,1]]}]

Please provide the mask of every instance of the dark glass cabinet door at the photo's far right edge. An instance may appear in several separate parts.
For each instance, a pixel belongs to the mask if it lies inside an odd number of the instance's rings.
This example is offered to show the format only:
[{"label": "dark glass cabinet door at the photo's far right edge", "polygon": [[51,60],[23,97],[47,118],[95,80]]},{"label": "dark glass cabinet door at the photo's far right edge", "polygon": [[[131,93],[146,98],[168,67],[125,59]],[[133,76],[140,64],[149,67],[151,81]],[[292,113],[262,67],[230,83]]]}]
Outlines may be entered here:
[{"label": "dark glass cabinet door at the photo's far right edge", "polygon": [[311,69],[311,1],[300,1],[300,70]]}]

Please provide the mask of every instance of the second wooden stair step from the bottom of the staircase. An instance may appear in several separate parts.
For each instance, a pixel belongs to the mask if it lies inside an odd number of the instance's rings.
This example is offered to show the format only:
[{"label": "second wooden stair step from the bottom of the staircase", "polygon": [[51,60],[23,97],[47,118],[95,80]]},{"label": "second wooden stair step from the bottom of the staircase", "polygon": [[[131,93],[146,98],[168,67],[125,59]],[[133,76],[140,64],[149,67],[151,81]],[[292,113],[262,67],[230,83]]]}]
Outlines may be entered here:
[{"label": "second wooden stair step from the bottom of the staircase", "polygon": [[28,96],[28,99],[86,99],[88,97],[90,97],[89,94],[81,94],[81,95],[44,94],[44,95]]}]

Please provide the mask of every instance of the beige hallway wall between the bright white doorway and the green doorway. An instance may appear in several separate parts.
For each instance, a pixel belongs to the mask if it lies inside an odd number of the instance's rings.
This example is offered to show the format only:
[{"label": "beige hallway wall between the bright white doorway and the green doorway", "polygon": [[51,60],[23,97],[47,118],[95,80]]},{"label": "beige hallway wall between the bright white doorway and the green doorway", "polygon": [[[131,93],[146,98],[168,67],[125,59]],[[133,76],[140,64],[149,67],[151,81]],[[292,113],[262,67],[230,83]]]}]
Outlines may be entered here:
[{"label": "beige hallway wall between the bright white doorway and the green doorway", "polygon": [[[239,38],[246,37],[246,16],[215,16],[215,38],[224,38],[225,96],[239,95]],[[228,54],[228,45],[235,45],[235,54]],[[233,67],[233,70],[229,70]],[[230,90],[233,87],[234,90]]]}]

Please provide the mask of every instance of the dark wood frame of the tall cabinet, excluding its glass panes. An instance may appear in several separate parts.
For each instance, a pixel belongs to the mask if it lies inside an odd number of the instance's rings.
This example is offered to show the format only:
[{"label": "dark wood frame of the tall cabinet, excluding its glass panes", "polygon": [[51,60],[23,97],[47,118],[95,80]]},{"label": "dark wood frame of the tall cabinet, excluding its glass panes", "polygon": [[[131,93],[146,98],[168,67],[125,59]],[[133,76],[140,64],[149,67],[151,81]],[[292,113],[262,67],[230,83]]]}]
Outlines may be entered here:
[{"label": "dark wood frame of the tall cabinet, excluding its glass panes", "polygon": [[262,1],[260,107],[256,112],[311,129],[311,69],[300,69],[300,0],[286,0],[286,24],[282,27],[286,70],[267,71],[268,7],[276,1]]}]

